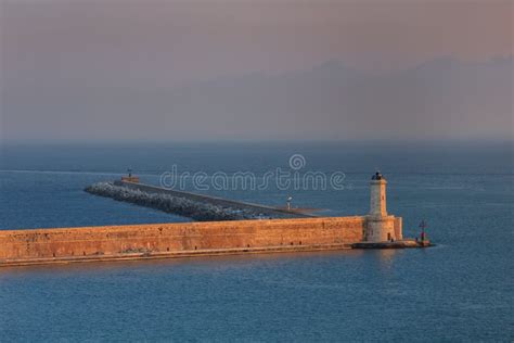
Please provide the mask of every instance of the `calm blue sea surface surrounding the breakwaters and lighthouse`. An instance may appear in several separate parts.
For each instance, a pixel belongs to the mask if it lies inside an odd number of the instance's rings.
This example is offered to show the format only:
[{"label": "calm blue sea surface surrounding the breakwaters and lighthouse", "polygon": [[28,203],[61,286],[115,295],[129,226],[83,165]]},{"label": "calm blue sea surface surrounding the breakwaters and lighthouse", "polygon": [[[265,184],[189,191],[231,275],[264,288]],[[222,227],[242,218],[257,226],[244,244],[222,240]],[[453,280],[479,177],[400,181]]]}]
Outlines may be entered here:
[{"label": "calm blue sea surface surrounding the breakwaters and lighthouse", "polygon": [[[82,189],[128,167],[178,174],[278,167],[345,173],[344,190],[215,190],[231,199],[365,214],[375,168],[407,237],[438,245],[156,262],[0,268],[0,341],[512,341],[512,144],[223,143],[4,145],[0,230],[187,218]],[[191,180],[185,186],[193,190]],[[273,183],[273,182],[271,182]]]}]

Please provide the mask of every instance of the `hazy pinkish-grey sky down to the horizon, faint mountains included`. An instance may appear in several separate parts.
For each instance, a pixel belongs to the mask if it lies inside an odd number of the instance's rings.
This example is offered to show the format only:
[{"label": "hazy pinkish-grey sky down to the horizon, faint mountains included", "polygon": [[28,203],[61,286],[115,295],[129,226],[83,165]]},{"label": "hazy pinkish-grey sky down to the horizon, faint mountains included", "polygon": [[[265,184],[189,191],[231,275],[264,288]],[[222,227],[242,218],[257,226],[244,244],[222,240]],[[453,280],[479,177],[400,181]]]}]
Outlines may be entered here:
[{"label": "hazy pinkish-grey sky down to the horizon, faint mountains included", "polygon": [[[514,3],[496,0],[0,0],[0,135],[3,140],[509,139],[513,18]],[[484,77],[471,76],[486,75],[487,87],[450,87],[451,104],[433,97],[429,87],[452,82],[438,61],[454,61],[459,68],[451,71],[459,80],[481,82]],[[415,71],[426,64],[439,79],[419,78]],[[490,67],[484,71],[484,64]],[[314,75],[301,78],[306,73]],[[294,77],[335,96],[313,97],[307,113],[306,90],[298,90],[305,85],[291,81]],[[320,77],[324,82],[316,84]],[[409,105],[395,104],[402,98],[391,98],[388,86],[374,86],[387,80],[398,89],[414,82],[417,92],[406,94]],[[227,82],[237,82],[241,94],[229,92]],[[284,82],[286,89],[279,86]],[[502,96],[488,92],[491,85],[501,86]],[[279,89],[282,100],[271,100],[268,86]],[[477,107],[462,92],[487,106]],[[377,106],[363,105],[374,98]],[[452,112],[453,119],[439,123],[452,113],[437,113],[427,122],[428,105]],[[375,125],[378,117],[383,131]]]}]

